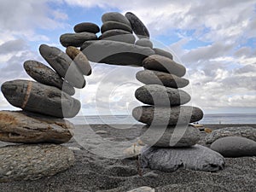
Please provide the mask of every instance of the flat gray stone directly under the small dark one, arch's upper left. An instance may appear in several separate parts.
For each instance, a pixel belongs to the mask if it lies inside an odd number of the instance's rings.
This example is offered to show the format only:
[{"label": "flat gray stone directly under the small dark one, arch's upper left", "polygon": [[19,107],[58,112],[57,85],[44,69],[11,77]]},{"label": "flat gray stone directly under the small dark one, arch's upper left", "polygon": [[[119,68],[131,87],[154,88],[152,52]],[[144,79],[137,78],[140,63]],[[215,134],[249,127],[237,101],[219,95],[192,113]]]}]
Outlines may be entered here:
[{"label": "flat gray stone directly under the small dark one, arch's upper left", "polygon": [[82,44],[84,44],[84,41],[96,39],[96,34],[92,32],[65,33],[61,35],[60,42],[63,47],[80,47]]}]

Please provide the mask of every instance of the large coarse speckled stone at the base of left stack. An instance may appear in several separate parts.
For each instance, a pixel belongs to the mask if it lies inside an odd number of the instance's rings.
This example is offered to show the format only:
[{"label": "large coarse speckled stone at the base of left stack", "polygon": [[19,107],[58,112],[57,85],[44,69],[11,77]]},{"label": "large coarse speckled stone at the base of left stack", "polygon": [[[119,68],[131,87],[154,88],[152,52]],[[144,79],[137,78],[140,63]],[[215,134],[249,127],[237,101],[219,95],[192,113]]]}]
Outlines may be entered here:
[{"label": "large coarse speckled stone at the base of left stack", "polygon": [[73,151],[55,144],[13,145],[0,148],[0,182],[36,180],[67,170]]}]

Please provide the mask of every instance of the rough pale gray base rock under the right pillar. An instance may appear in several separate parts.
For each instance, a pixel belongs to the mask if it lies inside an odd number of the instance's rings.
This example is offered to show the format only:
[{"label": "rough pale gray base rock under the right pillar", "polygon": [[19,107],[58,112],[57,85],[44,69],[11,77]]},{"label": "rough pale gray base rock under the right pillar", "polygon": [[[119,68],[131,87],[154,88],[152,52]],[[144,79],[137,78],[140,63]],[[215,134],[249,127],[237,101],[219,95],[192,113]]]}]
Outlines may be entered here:
[{"label": "rough pale gray base rock under the right pillar", "polygon": [[143,148],[143,168],[175,172],[178,168],[218,172],[224,169],[224,157],[210,148],[196,144],[190,148]]}]

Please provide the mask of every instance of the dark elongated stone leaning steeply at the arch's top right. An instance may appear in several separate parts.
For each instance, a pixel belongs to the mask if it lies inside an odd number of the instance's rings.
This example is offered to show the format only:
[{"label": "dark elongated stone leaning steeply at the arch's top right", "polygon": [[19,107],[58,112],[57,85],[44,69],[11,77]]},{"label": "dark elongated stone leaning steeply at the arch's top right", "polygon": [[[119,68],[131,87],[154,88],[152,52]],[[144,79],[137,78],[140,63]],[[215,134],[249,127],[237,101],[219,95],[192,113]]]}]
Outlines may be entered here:
[{"label": "dark elongated stone leaning steeply at the arch's top right", "polygon": [[131,28],[138,38],[149,38],[147,27],[143,24],[143,21],[137,17],[137,15],[127,12],[125,17],[130,21]]}]

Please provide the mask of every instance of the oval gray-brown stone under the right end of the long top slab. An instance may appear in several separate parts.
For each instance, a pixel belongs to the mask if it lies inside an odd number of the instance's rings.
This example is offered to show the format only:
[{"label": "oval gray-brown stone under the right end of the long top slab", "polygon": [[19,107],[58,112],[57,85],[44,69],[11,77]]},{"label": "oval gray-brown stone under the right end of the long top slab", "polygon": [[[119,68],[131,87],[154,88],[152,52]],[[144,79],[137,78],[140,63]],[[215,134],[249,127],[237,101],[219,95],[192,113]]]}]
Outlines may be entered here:
[{"label": "oval gray-brown stone under the right end of the long top slab", "polygon": [[186,68],[170,58],[161,55],[149,55],[143,60],[143,67],[149,70],[174,74],[177,77],[183,77],[186,73]]}]

